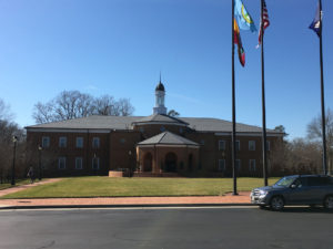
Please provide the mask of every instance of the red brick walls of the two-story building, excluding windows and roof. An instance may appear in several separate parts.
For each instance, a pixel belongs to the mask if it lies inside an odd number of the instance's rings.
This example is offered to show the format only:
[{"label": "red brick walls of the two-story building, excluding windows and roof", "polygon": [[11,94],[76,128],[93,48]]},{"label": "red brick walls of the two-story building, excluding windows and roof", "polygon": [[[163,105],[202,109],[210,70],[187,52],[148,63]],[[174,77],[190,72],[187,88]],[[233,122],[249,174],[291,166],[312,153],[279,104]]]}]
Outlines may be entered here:
[{"label": "red brick walls of the two-story building, excluding windows and roof", "polygon": [[[167,131],[183,135],[188,139],[200,144],[199,149],[193,151],[193,172],[206,176],[231,176],[231,136],[216,136],[214,133],[195,133],[189,132],[182,127],[183,133],[180,133],[180,126],[163,125]],[[38,166],[38,145],[41,144],[42,136],[50,137],[50,147],[42,151],[42,165],[47,165],[44,169],[46,176],[71,176],[71,175],[108,175],[109,170],[118,168],[135,169],[137,148],[135,145],[145,139],[148,134],[151,136],[160,134],[161,125],[144,125],[143,134],[137,128],[134,131],[110,131],[110,133],[44,133],[44,132],[28,132],[28,148],[31,152],[31,157],[27,165],[32,164]],[[59,137],[65,136],[68,144],[65,148],[59,147]],[[83,148],[75,147],[75,138],[83,137]],[[100,137],[100,147],[92,147],[92,138]],[[225,151],[219,151],[219,141],[225,141]],[[238,152],[236,158],[241,159],[241,176],[261,176],[262,175],[262,147],[261,137],[256,136],[239,136],[236,139],[241,143],[241,151]],[[271,142],[271,149],[274,147],[279,137],[268,137]],[[249,151],[249,141],[255,141],[255,151]],[[183,173],[189,172],[188,155],[180,148],[160,148],[158,164],[163,164],[168,152],[174,152],[178,155],[178,163],[183,162]],[[131,152],[131,154],[129,154]],[[186,154],[186,156],[185,156]],[[270,152],[268,153],[270,156]],[[100,158],[100,169],[92,169],[92,158]],[[153,155],[153,154],[152,154]],[[67,158],[67,168],[58,169],[58,157]],[[75,169],[75,157],[82,157],[83,168]],[[219,172],[219,159],[225,159],[225,172]],[[249,170],[250,159],[255,159],[255,172]],[[192,172],[192,174],[193,174]]]}]

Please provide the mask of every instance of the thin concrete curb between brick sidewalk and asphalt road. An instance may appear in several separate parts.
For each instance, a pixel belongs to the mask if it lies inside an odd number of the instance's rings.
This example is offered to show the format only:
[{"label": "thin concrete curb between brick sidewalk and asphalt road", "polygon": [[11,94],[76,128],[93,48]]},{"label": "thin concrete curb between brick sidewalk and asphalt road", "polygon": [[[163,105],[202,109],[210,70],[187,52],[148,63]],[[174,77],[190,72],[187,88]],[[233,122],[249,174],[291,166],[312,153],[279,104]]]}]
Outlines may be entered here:
[{"label": "thin concrete curb between brick sidewalk and asphalt road", "polygon": [[61,209],[61,208],[147,208],[147,207],[246,207],[256,206],[254,204],[127,204],[127,205],[36,205],[36,206],[0,206],[0,210],[6,209]]}]

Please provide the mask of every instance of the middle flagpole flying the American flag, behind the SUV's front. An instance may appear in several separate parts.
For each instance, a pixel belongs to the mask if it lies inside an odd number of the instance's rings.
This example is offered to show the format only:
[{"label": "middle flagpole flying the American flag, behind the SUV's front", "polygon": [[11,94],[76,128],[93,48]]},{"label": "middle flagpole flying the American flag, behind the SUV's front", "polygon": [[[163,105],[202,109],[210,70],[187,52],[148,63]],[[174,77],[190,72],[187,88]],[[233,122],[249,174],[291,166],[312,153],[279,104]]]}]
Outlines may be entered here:
[{"label": "middle flagpole flying the American flag, behind the SUV's front", "polygon": [[264,185],[268,186],[268,139],[266,139],[266,107],[265,107],[265,70],[264,70],[264,19],[263,19],[264,2],[261,0],[261,96],[262,96],[262,165],[263,165],[263,178]]}]

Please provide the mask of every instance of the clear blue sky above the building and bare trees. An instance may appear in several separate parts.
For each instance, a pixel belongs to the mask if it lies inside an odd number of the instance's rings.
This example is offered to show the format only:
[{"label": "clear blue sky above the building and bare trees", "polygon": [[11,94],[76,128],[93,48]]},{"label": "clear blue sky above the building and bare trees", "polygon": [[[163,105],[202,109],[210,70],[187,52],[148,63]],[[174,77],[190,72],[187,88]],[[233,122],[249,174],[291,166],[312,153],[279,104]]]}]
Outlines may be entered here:
[{"label": "clear blue sky above the building and bare trees", "polygon": [[[259,25],[260,0],[243,0]],[[320,114],[319,39],[307,27],[316,0],[266,0],[266,123],[290,138]],[[325,105],[333,107],[333,2],[323,0]],[[150,115],[162,71],[167,107],[181,116],[231,120],[230,0],[0,1],[0,97],[21,126],[33,105],[63,90],[129,97]],[[236,121],[261,125],[258,34],[241,32]]]}]

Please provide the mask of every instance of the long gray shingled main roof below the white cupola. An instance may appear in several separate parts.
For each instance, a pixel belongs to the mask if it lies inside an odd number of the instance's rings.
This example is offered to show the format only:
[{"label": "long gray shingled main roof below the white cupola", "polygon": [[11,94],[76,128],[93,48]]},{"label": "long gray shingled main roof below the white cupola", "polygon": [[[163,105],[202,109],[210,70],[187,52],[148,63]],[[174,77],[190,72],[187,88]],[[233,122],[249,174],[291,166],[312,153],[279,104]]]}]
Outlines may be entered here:
[{"label": "long gray shingled main roof below the white cupola", "polygon": [[[198,132],[232,132],[232,123],[229,121],[206,117],[170,117],[168,115],[142,116],[89,116],[62,122],[53,122],[48,124],[39,124],[27,126],[26,128],[60,128],[60,129],[131,129],[133,123],[170,123],[170,124],[188,124],[190,128]],[[261,133],[261,127],[245,124],[236,124],[239,133]],[[268,129],[270,134],[282,135],[274,129]]]}]

